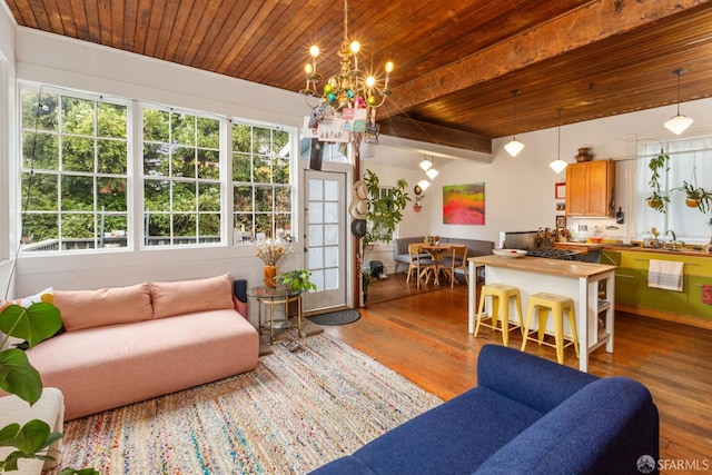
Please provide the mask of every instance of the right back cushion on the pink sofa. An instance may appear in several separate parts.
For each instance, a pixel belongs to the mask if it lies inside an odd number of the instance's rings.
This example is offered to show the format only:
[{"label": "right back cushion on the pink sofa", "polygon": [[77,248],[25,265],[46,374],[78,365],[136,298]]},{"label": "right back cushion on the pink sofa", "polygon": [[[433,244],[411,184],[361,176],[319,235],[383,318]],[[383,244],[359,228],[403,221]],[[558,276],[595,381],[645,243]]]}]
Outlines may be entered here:
[{"label": "right back cushion on the pink sofa", "polygon": [[150,283],[150,286],[154,318],[235,308],[229,274],[207,279]]}]

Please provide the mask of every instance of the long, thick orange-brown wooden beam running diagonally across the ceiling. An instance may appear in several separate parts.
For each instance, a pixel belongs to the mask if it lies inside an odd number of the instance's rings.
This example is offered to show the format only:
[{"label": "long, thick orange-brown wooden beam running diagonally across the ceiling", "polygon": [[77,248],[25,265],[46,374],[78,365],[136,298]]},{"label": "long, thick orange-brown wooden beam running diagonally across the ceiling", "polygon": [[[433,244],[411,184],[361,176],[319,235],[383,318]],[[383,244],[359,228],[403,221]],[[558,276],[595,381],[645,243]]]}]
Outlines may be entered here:
[{"label": "long, thick orange-brown wooden beam running diagonally across the ceiling", "polygon": [[[576,48],[659,21],[711,0],[601,0],[482,52],[463,58],[394,88],[392,100],[378,108],[383,119],[436,98],[491,81]],[[526,85],[522,85],[525,88]],[[503,91],[505,97],[508,91]]]}]

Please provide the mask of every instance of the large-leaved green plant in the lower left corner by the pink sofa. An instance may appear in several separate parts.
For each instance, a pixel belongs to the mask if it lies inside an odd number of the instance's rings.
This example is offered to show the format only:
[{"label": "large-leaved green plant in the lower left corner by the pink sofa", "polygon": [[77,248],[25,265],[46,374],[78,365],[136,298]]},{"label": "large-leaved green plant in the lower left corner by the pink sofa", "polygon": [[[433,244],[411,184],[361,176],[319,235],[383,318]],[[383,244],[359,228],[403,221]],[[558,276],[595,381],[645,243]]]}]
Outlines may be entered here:
[{"label": "large-leaved green plant in the lower left corner by the pink sofa", "polygon": [[[27,347],[53,336],[62,326],[59,309],[52,304],[37,303],[27,308],[10,305],[0,310],[0,331],[4,334],[0,348],[6,348],[10,337],[27,342]],[[12,347],[0,352],[0,388],[14,394],[30,405],[42,396],[42,379],[39,372],[30,364],[24,350]],[[18,469],[22,458],[53,461],[49,446],[62,437],[59,432],[51,432],[50,426],[39,419],[27,424],[10,424],[0,428],[0,447],[12,447],[16,451],[0,461],[0,472]],[[87,468],[77,471],[65,468],[60,475],[98,475],[99,472]]]}]

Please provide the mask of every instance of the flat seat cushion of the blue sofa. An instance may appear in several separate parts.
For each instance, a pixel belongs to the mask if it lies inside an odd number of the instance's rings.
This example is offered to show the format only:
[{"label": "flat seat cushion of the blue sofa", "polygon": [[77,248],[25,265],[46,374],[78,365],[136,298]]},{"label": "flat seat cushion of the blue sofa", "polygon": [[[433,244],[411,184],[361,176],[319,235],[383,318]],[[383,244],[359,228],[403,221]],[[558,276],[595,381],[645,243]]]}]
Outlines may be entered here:
[{"label": "flat seat cushion of the blue sofa", "polygon": [[346,457],[352,458],[346,466],[342,458],[314,473],[472,473],[541,417],[525,405],[476,387],[359,448]]}]

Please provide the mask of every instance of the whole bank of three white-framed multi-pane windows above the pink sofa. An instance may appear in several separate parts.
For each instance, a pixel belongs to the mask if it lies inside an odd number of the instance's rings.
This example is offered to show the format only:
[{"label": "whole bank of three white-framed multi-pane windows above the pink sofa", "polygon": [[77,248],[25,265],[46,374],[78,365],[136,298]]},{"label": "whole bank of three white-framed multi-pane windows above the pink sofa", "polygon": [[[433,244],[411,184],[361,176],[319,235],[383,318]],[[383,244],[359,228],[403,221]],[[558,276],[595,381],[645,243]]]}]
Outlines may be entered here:
[{"label": "whole bank of three white-framed multi-pane windows above the pink sofa", "polygon": [[[62,98],[68,103],[92,105],[91,130],[65,131]],[[53,235],[39,244],[24,236],[20,250],[28,256],[231,246],[261,237],[294,239],[296,128],[23,81],[18,101],[22,146],[17,160],[17,225],[31,232],[43,218],[49,225],[42,234]],[[102,135],[97,118],[105,107],[123,111],[120,138]],[[159,126],[149,120],[156,116],[165,119]],[[192,126],[187,126],[189,120]],[[234,133],[236,128],[249,129],[248,142]],[[100,144],[117,140],[125,150],[122,166],[106,169],[101,160],[107,151]],[[72,141],[90,150],[79,155],[86,160],[78,170],[66,167],[69,155],[62,147]],[[72,201],[67,195],[72,179],[80,190],[91,190],[76,194],[87,196],[86,202],[79,200],[79,209],[66,205]],[[33,189],[29,200],[28,184]],[[239,189],[249,189],[248,204],[238,199],[245,197]],[[109,196],[120,196],[122,208],[107,207]],[[90,235],[62,234],[71,219],[80,220]],[[157,226],[159,221],[162,227]]]}]

